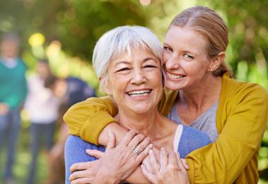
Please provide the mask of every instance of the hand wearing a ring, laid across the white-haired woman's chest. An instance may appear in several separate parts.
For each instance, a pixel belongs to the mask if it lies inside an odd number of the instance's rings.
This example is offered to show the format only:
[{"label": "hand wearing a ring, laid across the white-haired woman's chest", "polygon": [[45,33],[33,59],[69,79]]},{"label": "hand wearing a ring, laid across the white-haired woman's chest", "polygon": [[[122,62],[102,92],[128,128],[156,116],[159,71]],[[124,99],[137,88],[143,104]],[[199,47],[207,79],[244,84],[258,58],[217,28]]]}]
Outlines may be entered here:
[{"label": "hand wearing a ring, laid across the white-haired woman's chest", "polygon": [[[88,154],[98,158],[97,161],[78,163],[71,166],[71,183],[118,183],[127,178],[141,161],[148,155],[152,145],[144,135],[136,135],[129,131],[122,142],[115,147],[115,135],[110,133],[105,153],[98,150],[86,150]],[[141,152],[139,155],[134,152],[137,147]],[[76,171],[82,170],[82,171]],[[110,172],[113,171],[113,172]]]}]

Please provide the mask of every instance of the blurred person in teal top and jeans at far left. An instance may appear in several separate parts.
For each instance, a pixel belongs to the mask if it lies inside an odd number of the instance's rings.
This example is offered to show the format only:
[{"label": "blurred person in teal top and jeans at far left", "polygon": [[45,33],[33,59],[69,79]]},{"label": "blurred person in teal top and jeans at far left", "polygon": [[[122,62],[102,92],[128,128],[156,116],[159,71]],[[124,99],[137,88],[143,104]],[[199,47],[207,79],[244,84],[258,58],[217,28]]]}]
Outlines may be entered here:
[{"label": "blurred person in teal top and jeans at far left", "polygon": [[[5,183],[13,183],[12,166],[20,130],[21,106],[27,94],[25,64],[19,58],[20,41],[17,35],[4,35],[0,45],[0,153],[7,148]],[[1,157],[3,158],[3,157]],[[1,176],[0,176],[1,177]]]}]

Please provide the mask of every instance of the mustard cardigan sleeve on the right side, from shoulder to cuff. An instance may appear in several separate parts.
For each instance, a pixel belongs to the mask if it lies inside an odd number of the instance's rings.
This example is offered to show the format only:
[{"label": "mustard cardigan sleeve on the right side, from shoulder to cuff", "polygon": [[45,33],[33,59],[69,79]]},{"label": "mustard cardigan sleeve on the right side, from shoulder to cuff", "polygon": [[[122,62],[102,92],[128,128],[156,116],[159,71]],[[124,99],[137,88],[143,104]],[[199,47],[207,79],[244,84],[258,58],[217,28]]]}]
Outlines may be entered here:
[{"label": "mustard cardigan sleeve on the right side, from shoulder to cuff", "polygon": [[218,109],[217,122],[223,121],[218,139],[186,157],[190,183],[233,183],[241,173],[244,181],[240,183],[257,182],[257,154],[268,116],[267,91],[247,83],[233,94],[226,92],[224,100]]}]

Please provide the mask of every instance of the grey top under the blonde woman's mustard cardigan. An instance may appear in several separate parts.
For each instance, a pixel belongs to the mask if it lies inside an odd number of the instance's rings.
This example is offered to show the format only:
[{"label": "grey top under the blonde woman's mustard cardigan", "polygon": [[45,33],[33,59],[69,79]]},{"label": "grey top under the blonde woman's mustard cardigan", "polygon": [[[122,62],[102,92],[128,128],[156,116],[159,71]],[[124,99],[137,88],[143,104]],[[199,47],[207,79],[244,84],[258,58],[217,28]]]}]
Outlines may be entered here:
[{"label": "grey top under the blonde woman's mustard cardigan", "polygon": [[[218,137],[218,131],[216,128],[216,112],[219,102],[216,102],[211,108],[199,116],[190,127],[202,130],[204,133],[209,135],[211,142],[215,142]],[[177,106],[173,105],[167,118],[174,121],[177,124],[182,124],[179,114],[177,114]]]}]

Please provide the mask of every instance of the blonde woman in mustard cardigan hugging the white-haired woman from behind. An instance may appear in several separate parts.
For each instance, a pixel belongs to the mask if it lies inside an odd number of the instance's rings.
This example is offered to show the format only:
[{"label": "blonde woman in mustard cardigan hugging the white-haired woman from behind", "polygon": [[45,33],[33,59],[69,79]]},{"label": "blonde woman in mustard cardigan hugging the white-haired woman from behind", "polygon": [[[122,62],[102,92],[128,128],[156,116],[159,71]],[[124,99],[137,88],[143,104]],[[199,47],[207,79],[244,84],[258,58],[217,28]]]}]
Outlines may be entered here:
[{"label": "blonde woman in mustard cardigan hugging the white-haired woman from behind", "polygon": [[[260,85],[231,78],[224,61],[227,46],[226,24],[202,6],[177,15],[165,36],[166,87],[174,91],[165,91],[158,106],[161,114],[203,130],[214,141],[187,155],[190,183],[258,180],[257,156],[267,123],[268,95]],[[107,130],[117,137],[126,132],[108,116],[116,109],[108,98],[89,99],[72,107],[65,121],[71,134],[105,145]]]}]

